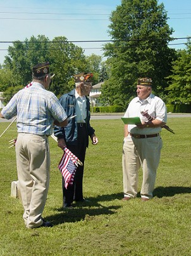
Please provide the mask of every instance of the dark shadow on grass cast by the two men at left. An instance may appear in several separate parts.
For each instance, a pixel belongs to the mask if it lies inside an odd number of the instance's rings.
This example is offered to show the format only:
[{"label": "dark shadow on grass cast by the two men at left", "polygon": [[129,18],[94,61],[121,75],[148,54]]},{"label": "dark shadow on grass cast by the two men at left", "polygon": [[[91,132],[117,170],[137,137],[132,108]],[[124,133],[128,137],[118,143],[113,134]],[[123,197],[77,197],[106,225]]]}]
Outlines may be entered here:
[{"label": "dark shadow on grass cast by the two men at left", "polygon": [[114,199],[121,199],[121,193],[106,194],[97,196],[96,198],[87,198],[89,201],[82,203],[74,203],[73,209],[70,208],[57,208],[57,214],[49,215],[48,220],[52,224],[58,225],[64,222],[78,222],[80,220],[92,220],[97,215],[111,215],[116,213],[120,206],[103,206],[102,201],[112,201]]}]

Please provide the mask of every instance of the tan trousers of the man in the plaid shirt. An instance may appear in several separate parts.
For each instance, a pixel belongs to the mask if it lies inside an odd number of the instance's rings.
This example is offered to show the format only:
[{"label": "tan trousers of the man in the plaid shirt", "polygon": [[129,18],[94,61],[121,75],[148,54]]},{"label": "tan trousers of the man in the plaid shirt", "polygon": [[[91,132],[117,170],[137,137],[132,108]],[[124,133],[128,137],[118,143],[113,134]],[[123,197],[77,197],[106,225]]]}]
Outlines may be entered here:
[{"label": "tan trousers of the man in the plaid shirt", "polygon": [[28,228],[42,225],[49,189],[50,152],[46,136],[18,133],[15,145],[20,192]]}]

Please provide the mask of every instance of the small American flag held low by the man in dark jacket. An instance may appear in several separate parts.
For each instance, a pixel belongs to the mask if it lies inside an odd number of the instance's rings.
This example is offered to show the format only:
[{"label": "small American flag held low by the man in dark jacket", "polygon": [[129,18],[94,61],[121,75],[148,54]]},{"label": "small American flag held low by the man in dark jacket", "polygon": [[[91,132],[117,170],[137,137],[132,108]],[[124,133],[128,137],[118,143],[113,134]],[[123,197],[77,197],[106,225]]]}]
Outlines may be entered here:
[{"label": "small American flag held low by the man in dark jacket", "polygon": [[77,172],[78,165],[83,165],[83,163],[75,156],[67,147],[64,149],[64,154],[59,162],[58,168],[65,178],[65,188],[68,185],[73,184],[73,179],[75,173]]}]

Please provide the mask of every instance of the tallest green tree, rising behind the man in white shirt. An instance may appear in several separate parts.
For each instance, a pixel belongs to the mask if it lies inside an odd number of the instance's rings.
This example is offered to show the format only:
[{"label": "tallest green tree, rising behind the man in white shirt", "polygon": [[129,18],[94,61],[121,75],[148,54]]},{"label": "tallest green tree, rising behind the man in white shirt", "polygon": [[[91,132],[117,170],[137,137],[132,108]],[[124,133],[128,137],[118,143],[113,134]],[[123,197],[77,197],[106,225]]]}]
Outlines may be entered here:
[{"label": "tallest green tree, rising behind the man in white shirt", "polygon": [[104,47],[111,77],[102,86],[101,99],[126,105],[135,97],[138,77],[149,76],[160,96],[171,74],[175,50],[168,48],[173,33],[164,5],[156,0],[122,0],[110,17],[112,43]]}]

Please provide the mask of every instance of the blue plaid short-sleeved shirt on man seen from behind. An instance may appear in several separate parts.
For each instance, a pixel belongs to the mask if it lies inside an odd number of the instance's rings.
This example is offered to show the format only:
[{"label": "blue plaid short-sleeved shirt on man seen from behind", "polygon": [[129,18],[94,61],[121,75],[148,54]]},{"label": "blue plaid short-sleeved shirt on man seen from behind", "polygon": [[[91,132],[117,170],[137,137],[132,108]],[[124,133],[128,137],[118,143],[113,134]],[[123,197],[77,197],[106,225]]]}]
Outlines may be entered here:
[{"label": "blue plaid short-sleeved shirt on man seen from behind", "polygon": [[58,98],[40,83],[18,91],[1,112],[6,119],[17,116],[18,133],[39,135],[51,135],[54,119],[67,118]]}]

